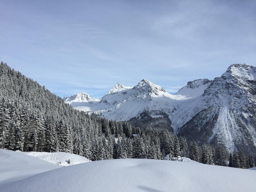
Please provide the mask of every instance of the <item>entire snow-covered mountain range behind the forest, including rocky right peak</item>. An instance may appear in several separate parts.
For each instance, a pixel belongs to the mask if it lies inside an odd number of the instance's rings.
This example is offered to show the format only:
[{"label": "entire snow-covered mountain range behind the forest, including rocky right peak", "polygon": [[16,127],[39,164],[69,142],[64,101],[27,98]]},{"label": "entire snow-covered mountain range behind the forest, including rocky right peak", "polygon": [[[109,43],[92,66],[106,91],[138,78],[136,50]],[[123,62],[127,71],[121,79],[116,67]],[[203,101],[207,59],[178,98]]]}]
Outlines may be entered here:
[{"label": "entire snow-covered mountain range behind the forest, including rocky right peak", "polygon": [[141,80],[117,83],[101,99],[80,93],[64,98],[72,107],[117,121],[166,114],[178,136],[198,143],[224,143],[229,151],[256,153],[256,67],[231,65],[221,77],[190,81],[176,94]]}]

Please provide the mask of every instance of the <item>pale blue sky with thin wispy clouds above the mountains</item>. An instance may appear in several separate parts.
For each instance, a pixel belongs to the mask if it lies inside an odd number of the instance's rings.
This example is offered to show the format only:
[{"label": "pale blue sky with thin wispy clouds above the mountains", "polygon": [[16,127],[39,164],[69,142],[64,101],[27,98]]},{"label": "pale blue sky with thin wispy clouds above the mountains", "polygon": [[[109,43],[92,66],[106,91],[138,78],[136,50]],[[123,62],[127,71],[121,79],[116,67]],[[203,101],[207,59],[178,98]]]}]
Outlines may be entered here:
[{"label": "pale blue sky with thin wispy clouds above the mountains", "polygon": [[60,97],[142,79],[175,93],[256,66],[254,0],[1,0],[0,60]]}]

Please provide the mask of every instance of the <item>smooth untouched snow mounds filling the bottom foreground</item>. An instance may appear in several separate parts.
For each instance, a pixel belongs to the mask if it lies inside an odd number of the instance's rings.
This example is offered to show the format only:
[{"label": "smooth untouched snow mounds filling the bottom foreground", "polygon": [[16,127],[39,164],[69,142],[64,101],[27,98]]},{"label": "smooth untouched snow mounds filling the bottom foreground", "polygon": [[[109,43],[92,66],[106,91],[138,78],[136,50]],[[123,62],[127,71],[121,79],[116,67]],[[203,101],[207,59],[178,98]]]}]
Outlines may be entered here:
[{"label": "smooth untouched snow mounds filling the bottom foreground", "polygon": [[[0,150],[0,191],[104,191],[104,192],[167,192],[167,191],[254,191],[256,171],[195,161],[177,162],[152,159],[115,159],[81,163],[68,167],[49,166],[47,171],[11,183],[2,182],[6,173],[11,176],[26,172],[36,158]],[[17,161],[18,160],[18,161]],[[37,159],[38,167],[45,166]],[[47,162],[45,162],[47,163]],[[50,164],[49,164],[50,165]],[[4,169],[6,167],[6,169]],[[60,166],[59,166],[60,167]],[[51,170],[52,169],[52,170]],[[41,169],[42,170],[42,169]]]}]

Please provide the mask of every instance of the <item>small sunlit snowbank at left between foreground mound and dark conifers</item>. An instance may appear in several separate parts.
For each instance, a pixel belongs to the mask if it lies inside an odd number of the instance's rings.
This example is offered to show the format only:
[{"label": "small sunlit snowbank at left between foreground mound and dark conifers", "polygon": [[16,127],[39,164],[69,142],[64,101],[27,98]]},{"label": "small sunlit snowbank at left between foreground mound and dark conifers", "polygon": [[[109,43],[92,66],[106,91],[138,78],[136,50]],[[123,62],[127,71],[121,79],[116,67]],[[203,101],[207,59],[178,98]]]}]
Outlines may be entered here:
[{"label": "small sunlit snowbank at left between foreground mound and dark conifers", "polygon": [[[67,152],[34,152],[34,151],[31,151],[31,152],[17,151],[17,152],[27,154],[29,156],[33,156],[38,159],[48,161],[49,163],[54,163],[56,165],[61,165],[64,167],[90,162],[89,159],[83,156],[67,153]],[[68,160],[70,160],[70,163],[68,163]]]}]

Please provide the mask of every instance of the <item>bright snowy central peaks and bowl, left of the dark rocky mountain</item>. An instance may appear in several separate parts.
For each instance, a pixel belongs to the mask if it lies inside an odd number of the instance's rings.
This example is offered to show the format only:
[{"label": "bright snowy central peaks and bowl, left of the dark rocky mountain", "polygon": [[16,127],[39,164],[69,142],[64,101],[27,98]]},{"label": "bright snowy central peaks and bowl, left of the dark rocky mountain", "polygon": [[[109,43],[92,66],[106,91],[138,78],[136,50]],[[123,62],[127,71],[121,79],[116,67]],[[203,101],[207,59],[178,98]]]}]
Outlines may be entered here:
[{"label": "bright snowy central peaks and bowl, left of the dark rocky mountain", "polygon": [[78,106],[76,100],[72,100],[74,96],[65,98],[65,102],[76,109],[117,121],[128,121],[144,110],[165,112],[171,119],[173,110],[184,103],[191,103],[191,98],[202,95],[210,82],[207,79],[189,82],[186,87],[172,95],[159,85],[143,79],[132,88],[117,83],[99,102],[92,103],[85,99]]}]

